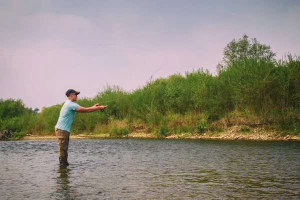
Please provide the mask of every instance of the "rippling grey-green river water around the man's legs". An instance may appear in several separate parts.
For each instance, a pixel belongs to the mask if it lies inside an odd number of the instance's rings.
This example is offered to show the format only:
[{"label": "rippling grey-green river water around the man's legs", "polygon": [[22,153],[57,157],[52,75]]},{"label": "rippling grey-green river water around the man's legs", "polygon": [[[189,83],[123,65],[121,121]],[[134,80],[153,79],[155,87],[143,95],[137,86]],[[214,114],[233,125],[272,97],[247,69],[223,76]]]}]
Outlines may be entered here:
[{"label": "rippling grey-green river water around the man's legs", "polygon": [[0,142],[0,199],[300,199],[300,142]]}]

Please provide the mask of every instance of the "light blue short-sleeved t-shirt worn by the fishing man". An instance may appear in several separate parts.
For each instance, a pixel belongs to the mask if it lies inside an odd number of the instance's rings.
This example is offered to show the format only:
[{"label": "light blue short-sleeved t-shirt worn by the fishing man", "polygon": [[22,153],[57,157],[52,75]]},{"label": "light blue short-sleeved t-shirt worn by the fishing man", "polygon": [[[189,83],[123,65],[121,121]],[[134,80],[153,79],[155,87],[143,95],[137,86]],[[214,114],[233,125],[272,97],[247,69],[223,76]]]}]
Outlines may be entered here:
[{"label": "light blue short-sleeved t-shirt worn by the fishing man", "polygon": [[74,120],[75,109],[79,107],[77,103],[67,99],[65,103],[62,105],[58,121],[55,125],[55,128],[59,128],[61,130],[70,131],[71,124]]}]

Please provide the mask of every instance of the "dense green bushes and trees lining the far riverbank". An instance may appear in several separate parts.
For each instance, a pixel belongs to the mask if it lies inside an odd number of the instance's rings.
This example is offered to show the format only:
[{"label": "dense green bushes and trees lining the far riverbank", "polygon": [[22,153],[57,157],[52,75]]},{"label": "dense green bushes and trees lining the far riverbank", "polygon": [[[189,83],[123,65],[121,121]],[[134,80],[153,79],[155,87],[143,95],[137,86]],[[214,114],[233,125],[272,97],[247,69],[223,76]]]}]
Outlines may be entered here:
[{"label": "dense green bushes and trees lining the far riverbank", "polygon": [[[72,134],[148,132],[157,137],[203,134],[240,125],[241,132],[260,127],[278,134],[300,134],[300,56],[277,60],[269,45],[246,34],[231,40],[216,75],[199,68],[149,80],[133,91],[107,85],[81,106],[107,104],[104,112],[76,113]],[[0,131],[54,135],[63,103],[38,110],[21,100],[0,99]]]}]

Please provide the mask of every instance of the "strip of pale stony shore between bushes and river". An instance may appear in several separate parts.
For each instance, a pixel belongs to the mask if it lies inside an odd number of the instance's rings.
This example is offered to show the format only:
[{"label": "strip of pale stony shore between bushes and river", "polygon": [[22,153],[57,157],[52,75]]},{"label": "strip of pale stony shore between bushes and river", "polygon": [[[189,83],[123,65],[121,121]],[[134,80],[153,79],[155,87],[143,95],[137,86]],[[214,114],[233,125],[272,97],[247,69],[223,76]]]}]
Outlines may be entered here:
[{"label": "strip of pale stony shore between bushes and river", "polygon": [[[300,140],[300,135],[280,134],[266,131],[261,128],[253,128],[250,131],[241,132],[239,126],[232,126],[223,132],[206,132],[202,134],[182,133],[178,135],[156,136],[147,132],[131,132],[127,135],[112,137],[106,134],[77,134],[70,135],[70,139],[92,139],[92,138],[166,138],[166,139],[244,139],[244,140]],[[55,135],[25,135],[22,140],[56,139]]]}]

